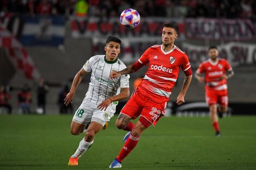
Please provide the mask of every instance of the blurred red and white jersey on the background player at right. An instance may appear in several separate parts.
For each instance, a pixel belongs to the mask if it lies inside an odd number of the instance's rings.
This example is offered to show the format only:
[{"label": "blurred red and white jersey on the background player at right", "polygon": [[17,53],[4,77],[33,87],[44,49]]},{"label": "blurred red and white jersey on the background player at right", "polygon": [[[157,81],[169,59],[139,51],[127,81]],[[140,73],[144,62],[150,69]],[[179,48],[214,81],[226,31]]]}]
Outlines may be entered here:
[{"label": "blurred red and white jersey on the background player at right", "polygon": [[225,71],[231,71],[232,67],[225,59],[218,59],[216,62],[212,62],[210,59],[203,61],[198,69],[198,74],[205,74],[205,88],[214,88],[215,90],[227,89],[227,80],[220,79]]}]

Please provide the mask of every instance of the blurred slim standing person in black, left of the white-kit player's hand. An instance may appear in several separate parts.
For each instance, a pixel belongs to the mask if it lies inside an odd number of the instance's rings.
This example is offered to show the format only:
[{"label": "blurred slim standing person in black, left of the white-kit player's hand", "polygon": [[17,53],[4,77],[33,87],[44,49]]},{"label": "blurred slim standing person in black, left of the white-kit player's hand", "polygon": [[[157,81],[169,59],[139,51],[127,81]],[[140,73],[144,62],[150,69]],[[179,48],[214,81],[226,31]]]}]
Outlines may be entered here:
[{"label": "blurred slim standing person in black, left of the white-kit player's hand", "polygon": [[45,114],[46,112],[46,94],[49,90],[48,85],[45,80],[40,78],[37,88],[37,99],[38,99],[38,109],[36,110],[39,114]]}]

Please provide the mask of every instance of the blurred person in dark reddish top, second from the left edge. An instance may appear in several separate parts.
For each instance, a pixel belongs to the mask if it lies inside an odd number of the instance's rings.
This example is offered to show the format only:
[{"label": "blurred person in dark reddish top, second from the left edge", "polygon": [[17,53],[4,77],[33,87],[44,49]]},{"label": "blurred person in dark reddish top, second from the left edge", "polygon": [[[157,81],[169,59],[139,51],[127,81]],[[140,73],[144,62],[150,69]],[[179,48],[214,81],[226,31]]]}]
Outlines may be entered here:
[{"label": "blurred person in dark reddish top, second from the left edge", "polygon": [[22,114],[30,114],[31,113],[31,89],[27,84],[25,84],[21,91],[18,93],[18,105],[22,111]]}]

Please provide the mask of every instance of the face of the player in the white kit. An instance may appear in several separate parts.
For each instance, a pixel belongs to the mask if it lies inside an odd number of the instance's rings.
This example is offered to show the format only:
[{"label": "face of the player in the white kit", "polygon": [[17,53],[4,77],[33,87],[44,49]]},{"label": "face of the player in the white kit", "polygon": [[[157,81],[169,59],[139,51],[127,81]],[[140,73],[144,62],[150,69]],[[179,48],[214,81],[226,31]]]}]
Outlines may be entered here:
[{"label": "face of the player in the white kit", "polygon": [[120,53],[120,44],[117,42],[110,41],[107,46],[105,46],[106,59],[108,61],[114,61],[117,59],[118,54]]}]

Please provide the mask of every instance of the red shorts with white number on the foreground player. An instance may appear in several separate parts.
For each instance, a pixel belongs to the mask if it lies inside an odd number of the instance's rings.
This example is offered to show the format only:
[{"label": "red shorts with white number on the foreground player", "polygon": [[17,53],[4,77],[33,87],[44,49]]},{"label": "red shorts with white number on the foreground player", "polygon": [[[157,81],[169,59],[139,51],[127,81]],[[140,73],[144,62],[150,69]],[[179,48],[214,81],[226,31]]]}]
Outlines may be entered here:
[{"label": "red shorts with white number on the foreground player", "polygon": [[[129,116],[131,119],[136,119],[139,115],[141,115],[141,118],[143,117],[147,119],[148,122],[155,126],[156,122],[164,115],[166,105],[167,102],[156,103],[142,95],[141,92],[135,91],[120,113]],[[146,128],[150,125],[150,123],[149,125],[146,125],[148,122],[140,122]]]}]

